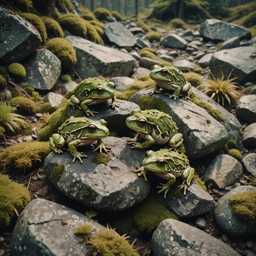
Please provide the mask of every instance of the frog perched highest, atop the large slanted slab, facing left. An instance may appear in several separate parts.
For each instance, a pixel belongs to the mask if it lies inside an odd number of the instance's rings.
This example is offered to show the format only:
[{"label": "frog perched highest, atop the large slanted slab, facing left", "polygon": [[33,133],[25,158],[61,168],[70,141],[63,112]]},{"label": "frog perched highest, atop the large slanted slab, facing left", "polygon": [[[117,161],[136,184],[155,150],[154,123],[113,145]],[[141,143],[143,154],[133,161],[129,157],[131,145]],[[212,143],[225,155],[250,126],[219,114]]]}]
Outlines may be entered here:
[{"label": "frog perched highest, atop the large slanted slab, facing left", "polygon": [[155,81],[151,95],[153,93],[161,93],[159,89],[162,88],[167,91],[175,90],[173,94],[165,93],[169,95],[169,98],[174,97],[175,100],[178,100],[181,94],[186,100],[192,93],[191,84],[186,80],[183,73],[175,67],[164,66],[159,68],[154,65],[149,76]]}]

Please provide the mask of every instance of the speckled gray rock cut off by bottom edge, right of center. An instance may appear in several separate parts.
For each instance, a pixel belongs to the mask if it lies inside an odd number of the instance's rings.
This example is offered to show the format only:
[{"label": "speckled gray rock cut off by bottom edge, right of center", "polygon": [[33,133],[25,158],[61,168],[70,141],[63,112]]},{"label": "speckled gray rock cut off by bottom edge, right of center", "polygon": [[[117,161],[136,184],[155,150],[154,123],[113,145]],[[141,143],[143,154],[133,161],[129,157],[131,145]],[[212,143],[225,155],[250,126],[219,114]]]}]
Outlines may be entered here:
[{"label": "speckled gray rock cut off by bottom edge, right of center", "polygon": [[240,256],[219,239],[174,219],[159,224],[153,233],[151,246],[157,256]]}]

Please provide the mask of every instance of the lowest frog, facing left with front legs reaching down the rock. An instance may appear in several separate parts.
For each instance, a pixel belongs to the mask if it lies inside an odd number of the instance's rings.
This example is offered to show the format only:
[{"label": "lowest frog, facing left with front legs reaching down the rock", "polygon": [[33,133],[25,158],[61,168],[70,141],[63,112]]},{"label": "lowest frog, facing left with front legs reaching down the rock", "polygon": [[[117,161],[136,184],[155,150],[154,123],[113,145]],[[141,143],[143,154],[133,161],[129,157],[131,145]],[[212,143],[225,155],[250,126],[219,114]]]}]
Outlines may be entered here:
[{"label": "lowest frog, facing left with front legs reaching down the rock", "polygon": [[186,195],[186,189],[190,185],[195,169],[189,166],[189,161],[184,154],[166,148],[156,152],[150,150],[146,152],[146,158],[142,164],[143,166],[140,169],[133,172],[138,173],[138,176],[143,175],[145,181],[147,181],[147,170],[168,180],[166,184],[160,183],[162,186],[157,186],[157,188],[161,188],[157,192],[158,194],[165,191],[164,198],[166,198],[166,194],[175,183],[176,178],[182,177],[183,183],[179,186],[179,189],[184,188],[184,195]]}]

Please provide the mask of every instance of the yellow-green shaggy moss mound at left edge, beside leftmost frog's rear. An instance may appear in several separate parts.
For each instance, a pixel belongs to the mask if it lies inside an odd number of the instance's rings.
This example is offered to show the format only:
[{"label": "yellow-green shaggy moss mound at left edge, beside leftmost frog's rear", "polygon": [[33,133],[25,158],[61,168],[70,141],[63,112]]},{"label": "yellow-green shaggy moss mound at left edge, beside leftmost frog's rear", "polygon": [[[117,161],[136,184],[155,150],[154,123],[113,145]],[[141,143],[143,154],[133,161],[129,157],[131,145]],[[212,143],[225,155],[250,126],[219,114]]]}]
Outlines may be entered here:
[{"label": "yellow-green shaggy moss mound at left edge, beside leftmost frog's rear", "polygon": [[50,152],[49,142],[23,142],[7,147],[0,154],[0,163],[3,167],[13,166],[25,169],[43,161]]}]

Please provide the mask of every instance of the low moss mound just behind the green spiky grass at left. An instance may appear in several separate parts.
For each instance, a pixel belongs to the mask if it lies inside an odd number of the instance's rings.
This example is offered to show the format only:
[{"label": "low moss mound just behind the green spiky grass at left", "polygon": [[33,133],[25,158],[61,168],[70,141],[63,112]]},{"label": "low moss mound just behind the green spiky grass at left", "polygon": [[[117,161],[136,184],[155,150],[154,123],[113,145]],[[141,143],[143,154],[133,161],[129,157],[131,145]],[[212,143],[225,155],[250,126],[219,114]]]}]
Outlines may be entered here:
[{"label": "low moss mound just behind the green spiky grass at left", "polygon": [[10,105],[17,106],[17,112],[20,114],[35,114],[38,110],[36,103],[25,97],[15,97],[9,101]]}]

